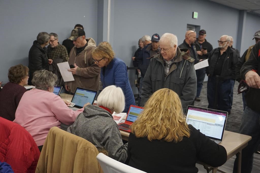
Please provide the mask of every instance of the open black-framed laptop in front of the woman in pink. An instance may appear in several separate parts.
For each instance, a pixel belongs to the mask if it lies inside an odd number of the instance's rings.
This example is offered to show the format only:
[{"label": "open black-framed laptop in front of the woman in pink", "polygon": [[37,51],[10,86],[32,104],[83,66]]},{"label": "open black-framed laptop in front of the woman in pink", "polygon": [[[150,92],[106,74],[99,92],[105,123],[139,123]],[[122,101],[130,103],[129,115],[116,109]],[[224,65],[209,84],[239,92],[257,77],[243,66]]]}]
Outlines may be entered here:
[{"label": "open black-framed laptop in front of the woman in pink", "polygon": [[75,103],[75,105],[74,107],[69,108],[78,110],[83,108],[83,106],[88,102],[93,105],[96,95],[97,91],[95,90],[77,87],[71,100],[71,102]]}]

